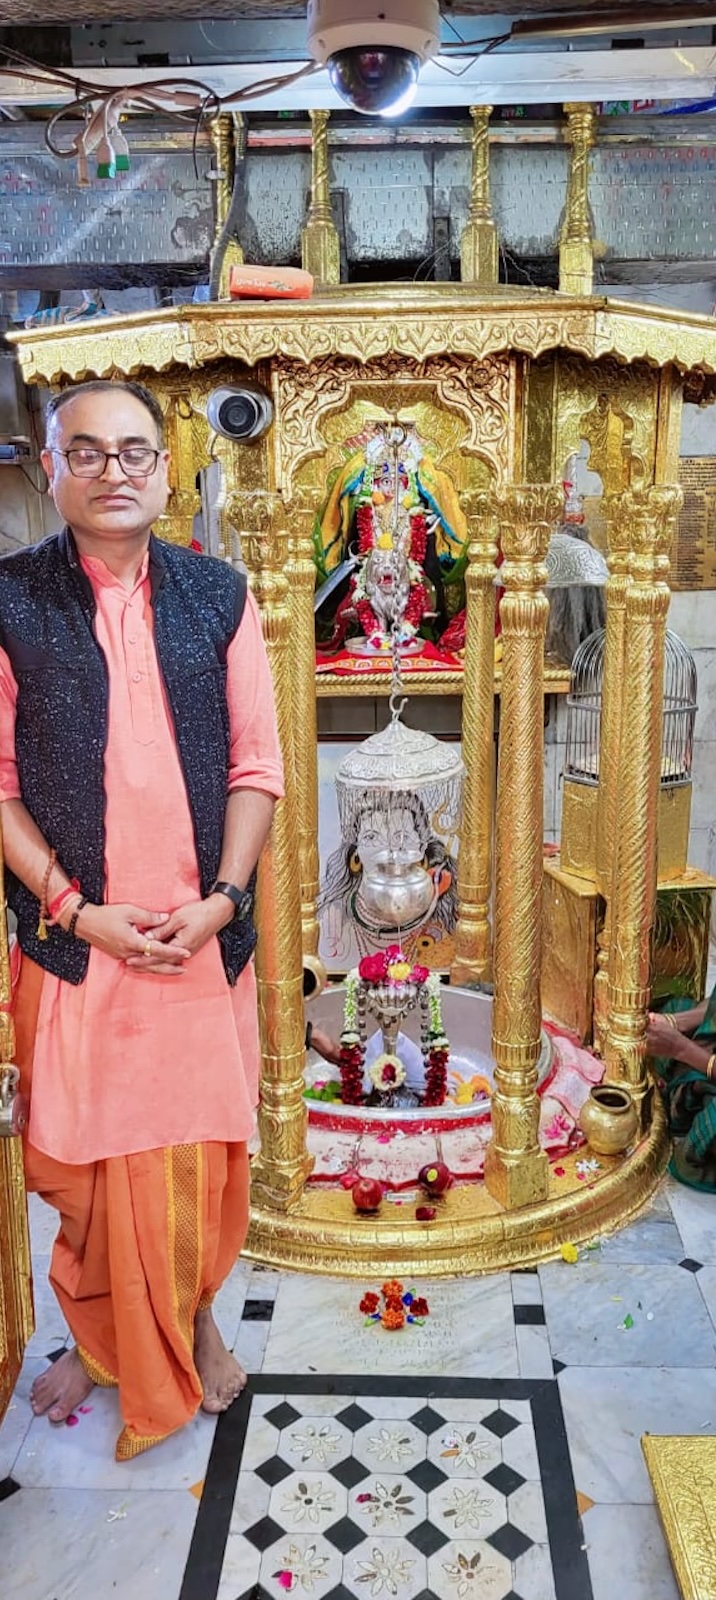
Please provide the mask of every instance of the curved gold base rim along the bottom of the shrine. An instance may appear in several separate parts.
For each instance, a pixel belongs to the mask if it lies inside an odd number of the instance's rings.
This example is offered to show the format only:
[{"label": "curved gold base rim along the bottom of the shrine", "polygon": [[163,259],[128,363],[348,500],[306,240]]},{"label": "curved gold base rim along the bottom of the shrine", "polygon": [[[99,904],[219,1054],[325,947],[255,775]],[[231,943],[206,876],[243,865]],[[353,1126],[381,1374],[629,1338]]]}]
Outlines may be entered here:
[{"label": "curved gold base rim along the bottom of the shrine", "polygon": [[[548,1198],[503,1211],[484,1184],[455,1186],[436,1202],[435,1222],[417,1222],[414,1203],[384,1202],[376,1216],[358,1216],[344,1189],[304,1190],[288,1213],[254,1206],[245,1254],[264,1266],[345,1277],[449,1277],[499,1272],[548,1261],[561,1245],[587,1245],[622,1227],[658,1187],[670,1152],[662,1102],[655,1098],[649,1133],[623,1158],[599,1157],[585,1182],[582,1147],[550,1170]],[[716,1594],[716,1592],[714,1592]]]}]

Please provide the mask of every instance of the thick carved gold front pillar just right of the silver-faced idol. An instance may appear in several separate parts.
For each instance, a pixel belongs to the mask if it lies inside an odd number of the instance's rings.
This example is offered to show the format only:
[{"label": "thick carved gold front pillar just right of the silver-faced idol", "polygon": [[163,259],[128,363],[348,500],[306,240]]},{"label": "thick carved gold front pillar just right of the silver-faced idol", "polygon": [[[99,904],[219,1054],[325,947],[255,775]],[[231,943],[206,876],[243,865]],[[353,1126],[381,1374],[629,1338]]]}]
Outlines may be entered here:
[{"label": "thick carved gold front pillar just right of the silver-faced idol", "polygon": [[502,702],[495,821],[495,928],[492,1139],[484,1163],[489,1192],[505,1206],[547,1195],[539,1146],[540,944],[543,858],[548,600],[545,555],[561,512],[551,485],[497,491],[503,565]]}]

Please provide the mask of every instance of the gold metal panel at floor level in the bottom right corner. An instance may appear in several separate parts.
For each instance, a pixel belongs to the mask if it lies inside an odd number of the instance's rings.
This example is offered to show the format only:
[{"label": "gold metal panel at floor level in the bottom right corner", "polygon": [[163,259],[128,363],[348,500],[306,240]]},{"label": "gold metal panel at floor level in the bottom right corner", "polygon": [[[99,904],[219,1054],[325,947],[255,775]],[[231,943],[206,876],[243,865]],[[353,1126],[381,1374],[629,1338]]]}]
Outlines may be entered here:
[{"label": "gold metal panel at floor level in the bottom right corner", "polygon": [[641,1440],[682,1600],[716,1597],[716,1438]]}]

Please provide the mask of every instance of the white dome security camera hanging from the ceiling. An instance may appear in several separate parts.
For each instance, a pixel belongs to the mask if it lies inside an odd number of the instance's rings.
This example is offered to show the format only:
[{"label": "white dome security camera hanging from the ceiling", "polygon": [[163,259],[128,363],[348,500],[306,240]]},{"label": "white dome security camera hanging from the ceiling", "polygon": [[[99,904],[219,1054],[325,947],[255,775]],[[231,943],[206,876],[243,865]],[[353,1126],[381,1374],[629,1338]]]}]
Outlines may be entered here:
[{"label": "white dome security camera hanging from the ceiling", "polygon": [[404,110],[438,43],[438,0],[308,0],[308,50],[352,110]]}]

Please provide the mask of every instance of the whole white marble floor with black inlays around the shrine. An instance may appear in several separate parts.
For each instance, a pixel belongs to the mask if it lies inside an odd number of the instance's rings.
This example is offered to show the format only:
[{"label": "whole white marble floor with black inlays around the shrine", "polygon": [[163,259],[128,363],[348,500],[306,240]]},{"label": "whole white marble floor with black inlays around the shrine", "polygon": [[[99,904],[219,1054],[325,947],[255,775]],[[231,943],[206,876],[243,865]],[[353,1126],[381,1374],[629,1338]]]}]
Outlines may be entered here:
[{"label": "whole white marble floor with black inlays around the shrine", "polygon": [[575,1266],[414,1283],[401,1333],[360,1312],[379,1275],[238,1262],[216,1312],[248,1392],[133,1462],[113,1390],[32,1418],[69,1331],[30,1200],[2,1600],[678,1600],[641,1437],[716,1432],[713,1197],[668,1182]]}]

